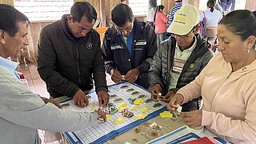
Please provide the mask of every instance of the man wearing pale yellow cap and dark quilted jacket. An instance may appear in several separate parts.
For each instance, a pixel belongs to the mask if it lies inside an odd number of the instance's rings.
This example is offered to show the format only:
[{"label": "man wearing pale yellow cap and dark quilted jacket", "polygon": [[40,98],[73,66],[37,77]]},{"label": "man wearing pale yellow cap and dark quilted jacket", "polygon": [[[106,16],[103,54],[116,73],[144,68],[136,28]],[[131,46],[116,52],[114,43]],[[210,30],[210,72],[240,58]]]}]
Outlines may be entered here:
[{"label": "man wearing pale yellow cap and dark quilted jacket", "polygon": [[[174,14],[174,21],[167,30],[172,36],[158,46],[150,66],[150,92],[154,101],[169,102],[213,57],[210,43],[197,34],[198,23],[199,12],[194,6],[182,6]],[[198,110],[199,106],[200,99],[194,99],[183,104],[182,111]]]}]

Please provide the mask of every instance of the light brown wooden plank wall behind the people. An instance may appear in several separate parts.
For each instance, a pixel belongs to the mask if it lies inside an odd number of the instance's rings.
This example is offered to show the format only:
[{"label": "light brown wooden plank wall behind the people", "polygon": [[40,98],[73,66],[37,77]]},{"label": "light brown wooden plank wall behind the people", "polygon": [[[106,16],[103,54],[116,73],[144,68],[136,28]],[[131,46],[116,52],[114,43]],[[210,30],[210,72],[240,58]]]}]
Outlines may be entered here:
[{"label": "light brown wooden plank wall behind the people", "polygon": [[[74,0],[74,2],[82,2],[85,0]],[[199,6],[200,0],[183,0],[183,4],[190,4],[195,7]],[[202,0],[201,0],[202,1]],[[204,0],[203,0],[204,1]],[[116,6],[120,0],[87,0],[87,2],[90,2],[98,14],[98,20],[95,26],[105,27],[105,26],[112,26],[111,18],[110,18],[110,11],[113,9],[114,6]],[[166,6],[166,13],[168,14],[170,12],[170,9],[174,6],[175,2],[174,0],[161,0],[162,5]],[[0,3],[6,3],[8,5],[14,6],[13,0],[0,0]],[[256,10],[256,1],[255,0],[246,0],[246,9],[247,10]],[[141,20],[145,20],[145,17],[139,17]],[[39,32],[42,29],[42,27],[50,24],[51,22],[32,22],[30,25],[30,31],[29,31],[29,42],[30,45],[28,46],[28,53],[27,55],[30,55],[28,57],[25,55],[26,59],[28,59],[30,62],[35,62],[36,56],[38,53],[38,37]]]}]

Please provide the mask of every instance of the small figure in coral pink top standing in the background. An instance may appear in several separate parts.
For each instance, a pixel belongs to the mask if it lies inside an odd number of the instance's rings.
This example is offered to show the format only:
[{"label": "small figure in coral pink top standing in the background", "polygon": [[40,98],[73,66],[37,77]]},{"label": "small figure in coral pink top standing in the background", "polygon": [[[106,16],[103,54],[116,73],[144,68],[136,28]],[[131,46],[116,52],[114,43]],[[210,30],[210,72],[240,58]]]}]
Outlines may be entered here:
[{"label": "small figure in coral pink top standing in the background", "polygon": [[157,6],[156,13],[154,15],[155,33],[157,34],[158,46],[160,42],[166,39],[166,23],[168,18],[164,13],[165,6]]}]

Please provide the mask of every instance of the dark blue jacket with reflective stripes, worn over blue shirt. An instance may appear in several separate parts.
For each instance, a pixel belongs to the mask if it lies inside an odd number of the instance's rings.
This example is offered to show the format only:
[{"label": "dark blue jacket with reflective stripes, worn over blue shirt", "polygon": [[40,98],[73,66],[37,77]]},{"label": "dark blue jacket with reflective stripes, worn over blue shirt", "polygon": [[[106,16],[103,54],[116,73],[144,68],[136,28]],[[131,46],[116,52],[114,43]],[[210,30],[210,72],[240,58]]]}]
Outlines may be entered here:
[{"label": "dark blue jacket with reflective stripes, worn over blue shirt", "polygon": [[131,54],[122,41],[122,38],[117,34],[114,26],[106,30],[104,42],[102,45],[102,56],[105,60],[107,72],[116,69],[122,75],[125,75],[129,70],[138,69],[140,75],[135,83],[148,88],[148,71],[150,70],[150,62],[157,50],[157,40],[154,29],[146,24],[140,22],[135,18],[134,20],[134,38],[132,42]]}]

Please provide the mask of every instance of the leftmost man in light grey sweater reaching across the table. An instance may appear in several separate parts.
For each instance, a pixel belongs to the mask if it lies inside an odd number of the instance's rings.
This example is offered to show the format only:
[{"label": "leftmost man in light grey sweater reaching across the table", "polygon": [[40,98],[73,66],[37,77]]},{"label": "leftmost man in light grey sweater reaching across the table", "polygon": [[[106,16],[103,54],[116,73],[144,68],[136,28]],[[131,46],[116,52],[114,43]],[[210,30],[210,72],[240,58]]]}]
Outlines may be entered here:
[{"label": "leftmost man in light grey sweater reaching across the table", "polygon": [[29,19],[13,6],[0,4],[0,143],[40,144],[38,129],[50,131],[83,130],[97,121],[106,121],[98,109],[92,113],[59,109],[58,102],[41,98],[20,81],[15,69],[22,49],[28,46]]}]

